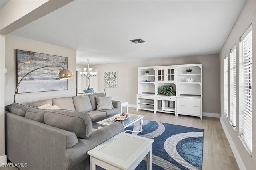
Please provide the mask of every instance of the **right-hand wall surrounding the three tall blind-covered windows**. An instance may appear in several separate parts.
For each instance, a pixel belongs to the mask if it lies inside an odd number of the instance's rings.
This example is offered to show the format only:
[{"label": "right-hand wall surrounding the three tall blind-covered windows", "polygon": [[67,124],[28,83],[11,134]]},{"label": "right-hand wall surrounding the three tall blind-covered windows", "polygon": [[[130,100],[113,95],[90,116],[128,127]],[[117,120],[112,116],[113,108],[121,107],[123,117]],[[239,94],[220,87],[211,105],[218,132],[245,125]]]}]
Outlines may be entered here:
[{"label": "right-hand wall surrounding the three tall blind-covered windows", "polygon": [[[239,108],[237,107],[237,127],[236,131],[231,127],[228,119],[224,115],[224,57],[230,52],[230,49],[236,44],[239,49],[239,38],[244,31],[252,23],[252,156],[248,154],[244,145],[238,138],[239,135]],[[237,62],[239,61],[239,53],[237,51]],[[239,72],[239,64],[237,63],[237,72]],[[230,35],[220,51],[220,90],[221,90],[221,122],[222,127],[230,141],[230,145],[234,152],[234,156],[238,162],[240,169],[256,169],[256,1],[247,1],[242,10],[236,24],[234,25]],[[239,88],[238,88],[239,90]],[[239,93],[237,94],[237,99]],[[239,103],[237,102],[237,106]]]}]

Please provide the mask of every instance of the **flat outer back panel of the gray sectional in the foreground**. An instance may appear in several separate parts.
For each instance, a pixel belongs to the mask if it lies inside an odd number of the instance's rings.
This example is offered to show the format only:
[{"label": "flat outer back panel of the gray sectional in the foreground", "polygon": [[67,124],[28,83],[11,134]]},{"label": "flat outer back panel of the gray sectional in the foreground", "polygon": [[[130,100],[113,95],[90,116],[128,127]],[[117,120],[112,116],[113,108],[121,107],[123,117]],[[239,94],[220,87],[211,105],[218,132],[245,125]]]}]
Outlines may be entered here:
[{"label": "flat outer back panel of the gray sectional in the foreground", "polygon": [[31,170],[66,169],[66,150],[78,143],[72,132],[13,113],[6,114],[6,127],[8,159]]}]

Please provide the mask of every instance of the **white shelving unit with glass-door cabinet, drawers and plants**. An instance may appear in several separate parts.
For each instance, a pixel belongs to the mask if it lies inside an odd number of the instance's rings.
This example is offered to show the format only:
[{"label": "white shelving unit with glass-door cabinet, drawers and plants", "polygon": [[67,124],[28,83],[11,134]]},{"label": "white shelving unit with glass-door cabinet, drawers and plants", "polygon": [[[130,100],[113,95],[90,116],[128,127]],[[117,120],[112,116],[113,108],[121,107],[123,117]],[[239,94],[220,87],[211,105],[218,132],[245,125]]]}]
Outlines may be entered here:
[{"label": "white shelving unit with glass-door cabinet, drawers and plants", "polygon": [[[186,72],[189,68],[190,74]],[[148,75],[146,70],[150,71]],[[194,81],[187,82],[188,78]],[[176,96],[159,95],[162,85],[171,85]],[[138,67],[138,109],[202,119],[202,64]]]}]

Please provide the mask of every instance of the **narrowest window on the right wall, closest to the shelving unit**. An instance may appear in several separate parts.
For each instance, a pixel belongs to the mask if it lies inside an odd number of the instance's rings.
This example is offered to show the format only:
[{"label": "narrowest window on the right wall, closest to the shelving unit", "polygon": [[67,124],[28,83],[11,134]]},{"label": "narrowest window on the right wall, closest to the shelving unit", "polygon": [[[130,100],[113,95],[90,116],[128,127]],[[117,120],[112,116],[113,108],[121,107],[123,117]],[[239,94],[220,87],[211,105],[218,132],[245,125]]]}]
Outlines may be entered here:
[{"label": "narrowest window on the right wall, closest to the shelving unit", "polygon": [[228,55],[224,59],[224,114],[228,117]]}]

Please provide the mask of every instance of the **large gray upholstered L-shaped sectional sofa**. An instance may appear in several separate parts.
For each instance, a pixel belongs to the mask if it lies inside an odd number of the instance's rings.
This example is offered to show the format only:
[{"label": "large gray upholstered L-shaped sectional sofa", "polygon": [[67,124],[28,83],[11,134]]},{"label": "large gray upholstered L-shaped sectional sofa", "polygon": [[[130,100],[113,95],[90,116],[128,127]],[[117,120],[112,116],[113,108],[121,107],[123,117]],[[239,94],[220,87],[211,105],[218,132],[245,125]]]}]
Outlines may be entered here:
[{"label": "large gray upholstered L-shaped sectional sofa", "polygon": [[[98,94],[100,96],[102,94]],[[124,131],[116,122],[92,131],[93,122],[120,113],[120,102],[113,109],[96,111],[96,96],[73,96],[10,104],[5,108],[6,154],[26,170],[89,169],[87,152]],[[50,103],[60,109],[36,108]]]}]

